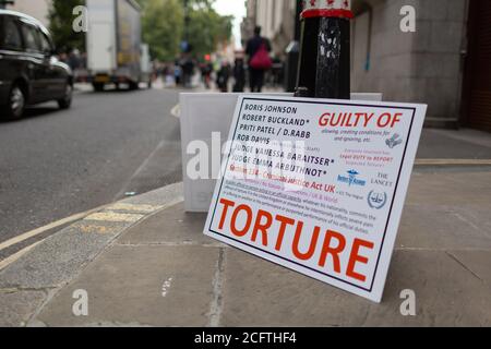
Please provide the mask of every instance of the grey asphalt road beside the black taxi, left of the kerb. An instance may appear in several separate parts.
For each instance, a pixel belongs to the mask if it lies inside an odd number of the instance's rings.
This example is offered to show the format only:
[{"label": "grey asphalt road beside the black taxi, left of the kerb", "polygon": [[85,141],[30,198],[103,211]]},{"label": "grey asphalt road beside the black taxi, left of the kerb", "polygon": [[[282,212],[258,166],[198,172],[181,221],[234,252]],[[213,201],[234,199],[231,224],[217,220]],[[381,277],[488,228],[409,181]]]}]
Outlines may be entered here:
[{"label": "grey asphalt road beside the black taxi, left of the kerb", "polygon": [[79,92],[0,123],[0,242],[181,180],[173,91]]}]

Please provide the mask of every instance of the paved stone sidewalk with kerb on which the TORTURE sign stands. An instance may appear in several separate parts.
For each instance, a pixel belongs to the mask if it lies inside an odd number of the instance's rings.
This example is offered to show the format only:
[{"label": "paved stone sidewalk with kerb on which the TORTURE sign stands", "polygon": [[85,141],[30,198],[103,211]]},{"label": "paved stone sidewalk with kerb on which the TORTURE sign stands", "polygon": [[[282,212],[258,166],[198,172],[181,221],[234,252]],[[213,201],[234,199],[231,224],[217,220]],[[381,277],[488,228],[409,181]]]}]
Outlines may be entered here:
[{"label": "paved stone sidewalk with kerb on which the TORTURE sign stands", "polygon": [[[0,324],[491,325],[490,168],[415,170],[382,304],[204,237],[205,215],[184,214],[181,191],[105,208],[1,270]],[[81,289],[87,316],[72,313]],[[400,314],[404,289],[416,316]]]}]

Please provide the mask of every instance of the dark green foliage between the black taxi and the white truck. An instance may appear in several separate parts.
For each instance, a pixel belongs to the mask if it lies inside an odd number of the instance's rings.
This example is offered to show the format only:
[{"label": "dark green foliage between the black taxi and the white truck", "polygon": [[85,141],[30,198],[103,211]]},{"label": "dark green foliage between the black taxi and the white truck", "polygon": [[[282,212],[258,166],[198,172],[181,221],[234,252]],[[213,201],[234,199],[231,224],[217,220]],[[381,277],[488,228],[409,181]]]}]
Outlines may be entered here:
[{"label": "dark green foliage between the black taxi and the white truck", "polygon": [[49,31],[58,51],[85,50],[85,34],[75,33],[72,27],[73,9],[84,3],[84,0],[52,0],[48,14]]}]

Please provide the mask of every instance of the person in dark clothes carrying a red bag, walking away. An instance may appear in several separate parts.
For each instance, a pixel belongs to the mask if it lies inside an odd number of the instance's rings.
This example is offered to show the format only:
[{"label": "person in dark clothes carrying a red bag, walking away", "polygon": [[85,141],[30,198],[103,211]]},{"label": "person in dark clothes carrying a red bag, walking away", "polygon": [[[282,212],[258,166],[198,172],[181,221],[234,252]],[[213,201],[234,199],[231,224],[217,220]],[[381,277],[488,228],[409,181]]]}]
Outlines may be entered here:
[{"label": "person in dark clothes carrying a red bag, walking away", "polygon": [[246,53],[249,56],[249,83],[251,92],[262,92],[264,73],[273,67],[270,58],[271,43],[261,36],[261,27],[254,28],[254,37],[248,41]]}]

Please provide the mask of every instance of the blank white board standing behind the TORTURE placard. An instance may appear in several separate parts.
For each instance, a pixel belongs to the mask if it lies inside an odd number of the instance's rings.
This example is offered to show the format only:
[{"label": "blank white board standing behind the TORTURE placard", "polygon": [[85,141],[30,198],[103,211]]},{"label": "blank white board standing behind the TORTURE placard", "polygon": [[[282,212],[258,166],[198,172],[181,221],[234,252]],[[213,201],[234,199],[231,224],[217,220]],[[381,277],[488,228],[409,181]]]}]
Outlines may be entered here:
[{"label": "blank white board standing behind the TORTURE placard", "polygon": [[[262,96],[291,97],[291,94],[262,94]],[[209,149],[209,158],[214,156],[212,149],[221,147],[227,141],[228,131],[232,122],[237,99],[241,94],[228,93],[181,93],[180,123],[182,143],[182,169],[184,179],[184,209],[185,212],[208,212],[215,190],[216,178],[214,168],[209,166],[206,178],[190,178],[188,166],[197,152],[190,147],[193,142],[202,142]],[[351,99],[382,100],[381,94],[352,94]],[[219,135],[218,146],[214,146],[213,134]],[[216,142],[215,142],[216,143]],[[218,163],[221,155],[218,154]],[[216,172],[219,172],[219,164]]]}]

